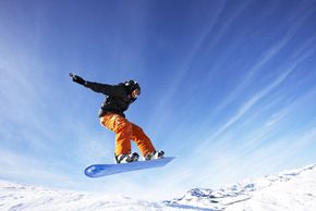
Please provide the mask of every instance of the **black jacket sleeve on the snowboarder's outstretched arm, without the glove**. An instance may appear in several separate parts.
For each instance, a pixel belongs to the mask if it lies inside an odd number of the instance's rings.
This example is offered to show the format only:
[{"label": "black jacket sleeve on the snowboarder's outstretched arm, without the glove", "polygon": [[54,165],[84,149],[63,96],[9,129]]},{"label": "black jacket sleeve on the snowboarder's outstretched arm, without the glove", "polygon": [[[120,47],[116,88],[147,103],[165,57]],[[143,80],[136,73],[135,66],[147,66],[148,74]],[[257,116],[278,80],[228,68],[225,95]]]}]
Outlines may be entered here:
[{"label": "black jacket sleeve on the snowboarder's outstretched arm, without the glove", "polygon": [[124,96],[124,90],[123,87],[121,86],[99,84],[95,82],[86,82],[84,86],[96,92],[105,94],[107,96],[118,96],[118,97]]}]

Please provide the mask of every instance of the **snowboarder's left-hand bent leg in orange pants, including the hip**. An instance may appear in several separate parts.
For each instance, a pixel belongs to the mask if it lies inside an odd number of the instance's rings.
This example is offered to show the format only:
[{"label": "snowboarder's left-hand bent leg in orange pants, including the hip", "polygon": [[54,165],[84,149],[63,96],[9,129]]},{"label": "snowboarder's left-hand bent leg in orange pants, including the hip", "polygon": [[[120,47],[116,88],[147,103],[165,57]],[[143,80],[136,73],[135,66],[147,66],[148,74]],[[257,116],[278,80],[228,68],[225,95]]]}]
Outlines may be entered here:
[{"label": "snowboarder's left-hand bent leg in orange pants, including the hip", "polygon": [[116,133],[116,156],[131,153],[132,123],[113,113],[100,117],[100,123]]}]

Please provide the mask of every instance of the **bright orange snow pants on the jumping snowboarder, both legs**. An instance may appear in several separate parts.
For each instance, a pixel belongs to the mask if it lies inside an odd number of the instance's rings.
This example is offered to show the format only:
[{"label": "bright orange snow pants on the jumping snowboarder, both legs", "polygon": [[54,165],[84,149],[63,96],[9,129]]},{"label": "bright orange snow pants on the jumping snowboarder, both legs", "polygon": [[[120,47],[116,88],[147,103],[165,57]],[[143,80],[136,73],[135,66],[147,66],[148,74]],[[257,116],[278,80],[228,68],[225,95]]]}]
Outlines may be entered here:
[{"label": "bright orange snow pants on the jumping snowboarder, both legs", "polygon": [[144,157],[155,151],[151,140],[143,129],[129,122],[125,117],[114,113],[107,113],[100,117],[100,123],[116,133],[116,156],[131,153],[131,140],[135,141]]}]

